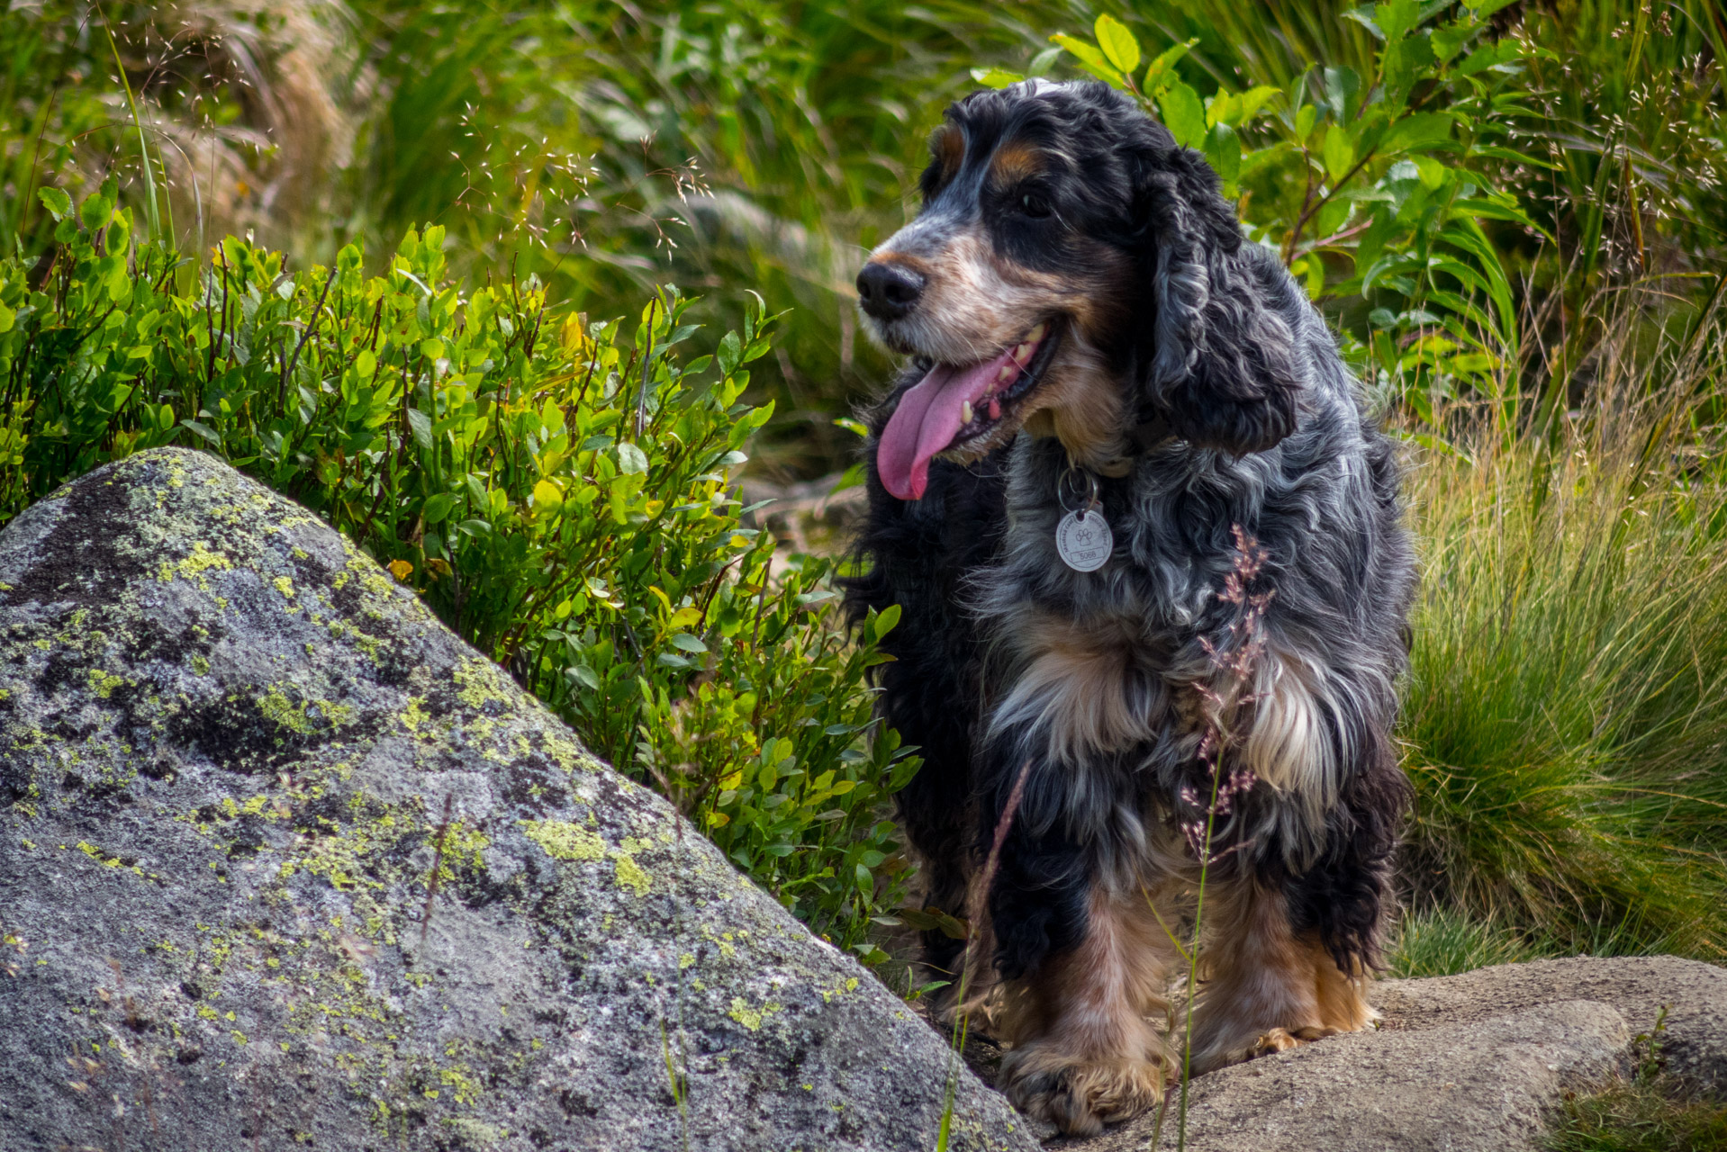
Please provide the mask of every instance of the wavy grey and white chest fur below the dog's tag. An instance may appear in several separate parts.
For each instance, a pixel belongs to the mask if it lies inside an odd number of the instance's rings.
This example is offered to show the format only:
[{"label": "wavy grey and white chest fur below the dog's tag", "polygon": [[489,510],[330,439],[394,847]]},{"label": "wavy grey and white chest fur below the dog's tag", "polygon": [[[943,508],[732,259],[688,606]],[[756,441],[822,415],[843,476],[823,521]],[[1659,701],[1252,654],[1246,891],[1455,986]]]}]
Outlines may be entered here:
[{"label": "wavy grey and white chest fur below the dog's tag", "polygon": [[[1345,428],[1321,420],[1242,459],[1180,442],[1143,453],[1128,475],[1098,482],[1116,548],[1097,572],[1069,568],[1055,544],[1072,492],[1085,491],[1069,478],[1059,492],[1066,453],[1031,437],[1014,446],[1002,551],[972,580],[988,653],[981,734],[1052,777],[1076,832],[1119,820],[1124,803],[1167,810],[1192,784],[1207,724],[1223,718],[1231,767],[1264,782],[1256,812],[1268,824],[1254,834],[1297,857],[1318,846],[1344,767],[1325,734],[1347,686],[1321,653],[1285,642],[1283,625],[1300,615],[1300,558],[1268,565],[1266,582],[1287,585],[1290,601],[1268,604],[1247,668],[1228,665],[1249,637],[1243,606],[1221,592],[1242,561],[1235,529],[1252,535],[1268,506],[1304,530],[1347,527],[1364,478],[1354,453],[1338,451]],[[1283,515],[1292,510],[1295,520]],[[1280,537],[1275,549],[1294,544]]]}]

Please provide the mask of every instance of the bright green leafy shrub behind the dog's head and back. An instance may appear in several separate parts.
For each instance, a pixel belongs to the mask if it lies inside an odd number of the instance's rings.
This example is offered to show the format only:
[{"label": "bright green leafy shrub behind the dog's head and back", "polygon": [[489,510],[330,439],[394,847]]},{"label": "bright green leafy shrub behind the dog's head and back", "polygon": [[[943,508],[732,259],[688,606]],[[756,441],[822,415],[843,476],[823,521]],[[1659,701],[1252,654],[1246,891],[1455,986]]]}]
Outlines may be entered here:
[{"label": "bright green leafy shrub behind the dog's head and back", "polygon": [[[1307,295],[1349,313],[1370,378],[1432,416],[1432,390],[1496,390],[1497,368],[1520,351],[1516,301],[1483,221],[1534,228],[1487,173],[1515,157],[1506,140],[1521,109],[1509,90],[1540,50],[1496,38],[1478,7],[1354,9],[1337,19],[1370,45],[1359,71],[1337,62],[1278,83],[1238,74],[1204,98],[1178,71],[1199,38],[1150,57],[1100,16],[1095,45],[1053,40],[1138,98],[1176,143],[1204,150],[1247,231],[1281,252]],[[1019,74],[979,78],[1003,86]]]}]

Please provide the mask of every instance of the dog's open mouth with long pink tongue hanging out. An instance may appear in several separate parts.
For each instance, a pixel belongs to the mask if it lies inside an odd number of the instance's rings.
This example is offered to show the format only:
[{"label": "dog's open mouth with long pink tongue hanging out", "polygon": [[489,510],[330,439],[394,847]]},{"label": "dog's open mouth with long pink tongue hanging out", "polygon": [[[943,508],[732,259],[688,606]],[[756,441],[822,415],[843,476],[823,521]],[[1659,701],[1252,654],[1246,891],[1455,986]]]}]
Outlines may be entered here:
[{"label": "dog's open mouth with long pink tongue hanging out", "polygon": [[922,499],[929,461],[988,435],[1024,402],[1048,368],[1060,333],[1041,321],[995,359],[933,364],[900,397],[876,449],[876,472],[900,499]]}]

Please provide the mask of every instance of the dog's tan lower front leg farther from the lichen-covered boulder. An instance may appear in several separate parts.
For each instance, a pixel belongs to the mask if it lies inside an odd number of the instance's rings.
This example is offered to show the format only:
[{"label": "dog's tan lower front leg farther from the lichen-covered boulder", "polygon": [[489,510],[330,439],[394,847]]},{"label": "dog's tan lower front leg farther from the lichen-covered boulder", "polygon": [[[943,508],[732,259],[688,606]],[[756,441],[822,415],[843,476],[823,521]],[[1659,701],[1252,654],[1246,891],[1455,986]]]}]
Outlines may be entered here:
[{"label": "dog's tan lower front leg farther from the lichen-covered boulder", "polygon": [[1207,929],[1193,1019],[1193,1071],[1280,1052],[1373,1019],[1364,979],[1340,972],[1311,936],[1290,931],[1283,896],[1252,881],[1205,893]]}]

